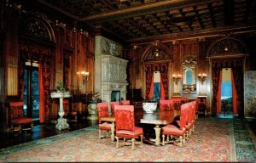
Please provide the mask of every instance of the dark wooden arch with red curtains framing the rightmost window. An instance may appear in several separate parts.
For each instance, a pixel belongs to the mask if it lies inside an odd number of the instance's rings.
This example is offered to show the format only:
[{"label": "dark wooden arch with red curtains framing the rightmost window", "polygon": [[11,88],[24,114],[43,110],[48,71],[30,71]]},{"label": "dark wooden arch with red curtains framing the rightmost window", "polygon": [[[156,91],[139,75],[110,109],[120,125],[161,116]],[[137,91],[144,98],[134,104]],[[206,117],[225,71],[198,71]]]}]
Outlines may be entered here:
[{"label": "dark wooden arch with red curtains framing the rightmost window", "polygon": [[233,103],[237,102],[237,108],[233,108],[234,113],[237,113],[240,117],[244,117],[244,87],[243,87],[243,74],[245,67],[245,59],[247,56],[247,48],[245,43],[239,39],[233,37],[224,37],[218,39],[207,49],[207,58],[211,64],[212,71],[212,114],[219,114],[220,106],[220,93],[219,85],[221,79],[221,70],[223,68],[231,68],[234,83],[236,87],[236,99],[233,99]]}]

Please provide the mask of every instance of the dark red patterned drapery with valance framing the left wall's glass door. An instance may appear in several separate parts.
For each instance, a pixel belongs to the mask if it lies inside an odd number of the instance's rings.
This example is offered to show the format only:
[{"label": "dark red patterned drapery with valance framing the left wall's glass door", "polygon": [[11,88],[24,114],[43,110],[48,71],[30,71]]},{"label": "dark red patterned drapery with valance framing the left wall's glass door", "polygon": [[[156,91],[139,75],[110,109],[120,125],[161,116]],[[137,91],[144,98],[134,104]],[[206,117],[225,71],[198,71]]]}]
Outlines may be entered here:
[{"label": "dark red patterned drapery with valance framing the left wall's glass door", "polygon": [[[23,99],[23,87],[24,87],[24,68],[25,61],[37,60],[38,67],[38,78],[39,78],[39,121],[49,122],[50,121],[50,65],[52,65],[52,52],[47,48],[40,48],[36,46],[29,46],[26,44],[20,44],[20,97]],[[43,101],[42,101],[43,100]],[[41,104],[42,103],[42,104]],[[43,108],[43,110],[41,110]]]}]

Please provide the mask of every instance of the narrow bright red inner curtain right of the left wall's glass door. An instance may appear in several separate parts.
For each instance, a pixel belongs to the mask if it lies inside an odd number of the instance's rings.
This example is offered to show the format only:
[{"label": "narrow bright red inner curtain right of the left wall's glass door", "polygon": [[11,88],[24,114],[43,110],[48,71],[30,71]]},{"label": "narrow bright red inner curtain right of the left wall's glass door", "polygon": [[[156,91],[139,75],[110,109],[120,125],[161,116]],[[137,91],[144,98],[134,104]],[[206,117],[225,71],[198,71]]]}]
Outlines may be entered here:
[{"label": "narrow bright red inner curtain right of the left wall's glass door", "polygon": [[44,122],[44,82],[43,82],[43,72],[42,66],[38,66],[38,78],[39,78],[39,122]]}]

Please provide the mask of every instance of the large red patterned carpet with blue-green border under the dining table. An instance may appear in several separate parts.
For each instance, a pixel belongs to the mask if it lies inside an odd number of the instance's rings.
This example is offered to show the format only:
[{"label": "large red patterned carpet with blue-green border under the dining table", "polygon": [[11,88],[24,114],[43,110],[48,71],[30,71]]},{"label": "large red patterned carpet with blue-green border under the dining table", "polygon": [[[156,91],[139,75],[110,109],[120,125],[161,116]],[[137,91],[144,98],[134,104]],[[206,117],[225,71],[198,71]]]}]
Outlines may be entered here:
[{"label": "large red patterned carpet with blue-green border under the dining table", "polygon": [[[236,127],[234,127],[236,126]],[[81,161],[247,161],[255,162],[255,141],[241,120],[201,118],[195,133],[183,145],[154,146],[144,143],[115,147],[110,138],[98,139],[96,126],[23,143],[0,150],[0,162]]]}]

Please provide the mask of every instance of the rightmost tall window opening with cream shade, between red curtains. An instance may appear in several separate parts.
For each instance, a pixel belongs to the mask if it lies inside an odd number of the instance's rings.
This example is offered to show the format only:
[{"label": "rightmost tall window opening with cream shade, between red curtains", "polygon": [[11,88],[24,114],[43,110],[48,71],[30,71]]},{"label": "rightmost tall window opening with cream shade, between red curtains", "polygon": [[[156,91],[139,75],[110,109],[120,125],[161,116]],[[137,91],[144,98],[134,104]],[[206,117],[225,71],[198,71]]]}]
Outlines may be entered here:
[{"label": "rightmost tall window opening with cream shade, between red curtains", "polygon": [[223,68],[221,74],[221,114],[233,115],[231,69]]}]

